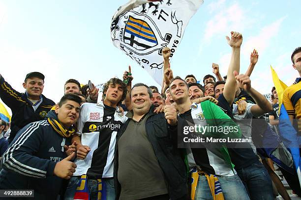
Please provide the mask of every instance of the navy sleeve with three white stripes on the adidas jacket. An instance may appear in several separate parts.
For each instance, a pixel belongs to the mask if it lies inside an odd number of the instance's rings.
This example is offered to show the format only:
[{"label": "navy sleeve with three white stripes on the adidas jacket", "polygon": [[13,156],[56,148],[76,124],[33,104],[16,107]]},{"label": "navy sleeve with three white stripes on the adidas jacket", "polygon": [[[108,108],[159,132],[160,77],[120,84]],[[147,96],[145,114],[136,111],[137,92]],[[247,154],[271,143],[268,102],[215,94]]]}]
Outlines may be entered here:
[{"label": "navy sleeve with three white stripes on the adidas jacket", "polygon": [[18,132],[2,156],[1,164],[5,170],[35,178],[53,175],[56,162],[34,156],[43,143],[42,134],[46,125],[49,124],[45,120],[34,122]]}]

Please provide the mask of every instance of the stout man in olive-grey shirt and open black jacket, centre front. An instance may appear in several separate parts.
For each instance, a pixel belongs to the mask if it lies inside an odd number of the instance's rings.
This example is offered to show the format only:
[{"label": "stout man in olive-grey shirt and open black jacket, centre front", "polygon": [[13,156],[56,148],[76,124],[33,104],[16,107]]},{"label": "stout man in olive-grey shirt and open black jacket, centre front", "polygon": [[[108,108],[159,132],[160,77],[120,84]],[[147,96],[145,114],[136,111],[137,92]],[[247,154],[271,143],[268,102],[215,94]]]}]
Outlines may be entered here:
[{"label": "stout man in olive-grey shirt and open black jacket, centre front", "polygon": [[137,83],[130,93],[133,110],[118,132],[114,178],[119,200],[185,200],[187,177],[177,149],[177,118],[174,106],[155,114],[151,89]]}]

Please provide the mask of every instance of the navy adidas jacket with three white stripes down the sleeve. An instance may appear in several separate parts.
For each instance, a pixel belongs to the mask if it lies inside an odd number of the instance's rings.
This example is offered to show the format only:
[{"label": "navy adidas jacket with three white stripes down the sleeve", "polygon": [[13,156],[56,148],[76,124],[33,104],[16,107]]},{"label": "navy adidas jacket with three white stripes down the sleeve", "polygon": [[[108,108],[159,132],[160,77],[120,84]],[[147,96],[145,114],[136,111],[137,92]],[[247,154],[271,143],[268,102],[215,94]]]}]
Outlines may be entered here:
[{"label": "navy adidas jacket with three white stripes down the sleeve", "polygon": [[[47,117],[58,120],[54,111]],[[60,136],[47,120],[26,125],[3,154],[0,189],[34,190],[34,199],[55,200],[65,180],[53,171],[66,157],[65,144],[70,138]]]}]

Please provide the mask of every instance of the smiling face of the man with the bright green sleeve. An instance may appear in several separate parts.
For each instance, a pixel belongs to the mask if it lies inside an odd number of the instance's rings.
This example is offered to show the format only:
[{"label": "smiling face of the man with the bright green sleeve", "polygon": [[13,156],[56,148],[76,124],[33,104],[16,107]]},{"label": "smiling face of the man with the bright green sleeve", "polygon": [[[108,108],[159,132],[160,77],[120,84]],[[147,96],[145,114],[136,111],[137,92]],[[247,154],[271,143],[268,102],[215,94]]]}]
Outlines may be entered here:
[{"label": "smiling face of the man with the bright green sleeve", "polygon": [[181,79],[175,79],[170,85],[170,95],[177,104],[189,99],[187,84]]}]

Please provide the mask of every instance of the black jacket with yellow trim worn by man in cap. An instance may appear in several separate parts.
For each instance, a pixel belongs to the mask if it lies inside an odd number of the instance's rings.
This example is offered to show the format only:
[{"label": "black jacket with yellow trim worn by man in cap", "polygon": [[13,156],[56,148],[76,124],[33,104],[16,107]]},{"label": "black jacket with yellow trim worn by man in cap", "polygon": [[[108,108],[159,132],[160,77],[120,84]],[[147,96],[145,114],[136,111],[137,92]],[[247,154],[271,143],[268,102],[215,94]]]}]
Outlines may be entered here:
[{"label": "black jacket with yellow trim worn by man in cap", "polygon": [[11,143],[17,132],[31,122],[43,120],[55,105],[53,100],[42,95],[43,101],[34,111],[25,93],[14,90],[0,75],[0,98],[11,109],[11,132],[8,143]]}]

